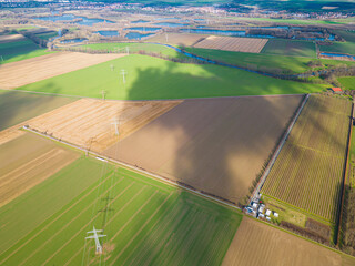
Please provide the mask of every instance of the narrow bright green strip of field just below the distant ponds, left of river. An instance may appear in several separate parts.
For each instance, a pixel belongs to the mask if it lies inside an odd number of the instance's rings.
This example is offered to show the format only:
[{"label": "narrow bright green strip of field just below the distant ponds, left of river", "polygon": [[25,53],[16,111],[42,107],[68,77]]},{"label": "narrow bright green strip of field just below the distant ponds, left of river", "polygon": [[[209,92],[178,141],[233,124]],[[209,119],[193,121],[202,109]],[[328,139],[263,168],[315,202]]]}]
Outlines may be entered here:
[{"label": "narrow bright green strip of field just below the distant ponds, left of river", "polygon": [[121,52],[126,52],[126,48],[129,48],[129,51],[132,53],[138,53],[140,51],[148,52],[148,53],[156,53],[161,54],[163,57],[168,58],[181,58],[181,54],[176,52],[173,49],[159,45],[159,44],[151,44],[151,43],[114,43],[114,42],[109,42],[109,43],[94,43],[94,44],[85,44],[85,45],[80,45],[78,48],[83,48],[83,49],[91,49],[91,50],[104,50],[108,52],[116,52],[120,50]]}]

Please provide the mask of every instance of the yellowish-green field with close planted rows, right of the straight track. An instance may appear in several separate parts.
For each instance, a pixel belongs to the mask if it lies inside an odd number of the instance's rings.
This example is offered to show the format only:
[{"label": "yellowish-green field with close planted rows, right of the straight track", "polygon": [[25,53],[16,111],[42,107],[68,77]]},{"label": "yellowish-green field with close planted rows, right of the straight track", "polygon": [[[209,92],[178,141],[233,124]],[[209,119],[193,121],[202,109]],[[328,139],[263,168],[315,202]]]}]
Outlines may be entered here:
[{"label": "yellowish-green field with close planted rows, right of the straight track", "polygon": [[335,222],[351,108],[345,99],[310,96],[264,183],[264,197]]}]

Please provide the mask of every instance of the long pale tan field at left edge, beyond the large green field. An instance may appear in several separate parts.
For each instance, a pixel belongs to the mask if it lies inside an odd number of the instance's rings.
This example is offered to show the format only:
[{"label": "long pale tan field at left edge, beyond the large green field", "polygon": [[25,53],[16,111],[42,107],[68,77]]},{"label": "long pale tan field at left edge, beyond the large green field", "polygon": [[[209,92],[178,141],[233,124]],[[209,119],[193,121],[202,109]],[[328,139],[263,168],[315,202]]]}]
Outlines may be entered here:
[{"label": "long pale tan field at left edge, beyond the large green field", "polygon": [[120,57],[124,57],[124,54],[58,52],[7,63],[0,66],[0,88],[14,89],[54,75],[103,63]]}]

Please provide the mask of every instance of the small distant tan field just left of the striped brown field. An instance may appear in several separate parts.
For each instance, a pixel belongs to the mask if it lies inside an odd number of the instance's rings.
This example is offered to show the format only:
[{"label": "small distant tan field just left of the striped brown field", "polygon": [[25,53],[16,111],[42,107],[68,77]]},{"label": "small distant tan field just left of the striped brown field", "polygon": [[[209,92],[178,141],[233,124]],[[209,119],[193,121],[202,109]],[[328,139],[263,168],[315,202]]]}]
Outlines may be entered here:
[{"label": "small distant tan field just left of the striped brown field", "polygon": [[169,43],[173,45],[185,45],[191,47],[197,41],[205,39],[206,34],[191,34],[191,33],[165,33],[156,34],[150,39],[146,39],[146,42],[160,42],[160,43]]}]

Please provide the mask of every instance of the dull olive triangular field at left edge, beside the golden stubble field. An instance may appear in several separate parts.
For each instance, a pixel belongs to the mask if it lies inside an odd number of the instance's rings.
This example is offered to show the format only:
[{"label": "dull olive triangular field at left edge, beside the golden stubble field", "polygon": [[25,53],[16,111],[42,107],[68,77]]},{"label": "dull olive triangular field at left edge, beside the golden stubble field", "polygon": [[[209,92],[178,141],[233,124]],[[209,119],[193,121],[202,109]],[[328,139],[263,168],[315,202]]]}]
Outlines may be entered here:
[{"label": "dull olive triangular field at left edge, beside the golden stubble field", "polygon": [[0,90],[0,131],[77,100]]}]

